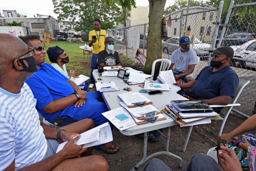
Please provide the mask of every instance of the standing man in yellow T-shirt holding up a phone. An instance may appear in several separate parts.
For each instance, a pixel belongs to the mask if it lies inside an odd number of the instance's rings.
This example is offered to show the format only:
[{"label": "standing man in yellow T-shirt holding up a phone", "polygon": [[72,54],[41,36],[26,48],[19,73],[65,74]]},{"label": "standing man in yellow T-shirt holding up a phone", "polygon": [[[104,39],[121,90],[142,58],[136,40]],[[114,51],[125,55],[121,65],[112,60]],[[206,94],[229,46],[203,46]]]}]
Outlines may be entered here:
[{"label": "standing man in yellow T-shirt holding up a phone", "polygon": [[95,84],[95,80],[92,76],[92,72],[94,69],[97,69],[97,58],[98,53],[102,50],[104,50],[105,45],[105,37],[107,37],[107,33],[105,30],[100,29],[100,20],[94,19],[93,20],[94,30],[90,31],[89,33],[89,43],[88,45],[92,46],[92,61],[91,61],[91,79],[90,79],[90,85],[89,88],[93,88]]}]

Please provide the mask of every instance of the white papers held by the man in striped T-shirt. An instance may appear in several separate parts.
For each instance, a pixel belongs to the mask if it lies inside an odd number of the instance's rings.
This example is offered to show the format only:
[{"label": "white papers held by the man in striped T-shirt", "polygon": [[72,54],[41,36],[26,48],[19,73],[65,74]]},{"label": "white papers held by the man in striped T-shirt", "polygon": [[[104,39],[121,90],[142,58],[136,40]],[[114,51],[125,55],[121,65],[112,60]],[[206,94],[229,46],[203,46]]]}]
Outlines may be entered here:
[{"label": "white papers held by the man in striped T-shirt", "polygon": [[[86,142],[83,148],[87,148],[95,145],[104,144],[110,141],[113,141],[113,136],[110,125],[108,122],[106,122],[100,126],[97,126],[82,133],[80,139],[76,142],[76,144],[82,145],[84,142]],[[66,143],[68,143],[68,141],[59,144],[56,153],[62,150]]]}]

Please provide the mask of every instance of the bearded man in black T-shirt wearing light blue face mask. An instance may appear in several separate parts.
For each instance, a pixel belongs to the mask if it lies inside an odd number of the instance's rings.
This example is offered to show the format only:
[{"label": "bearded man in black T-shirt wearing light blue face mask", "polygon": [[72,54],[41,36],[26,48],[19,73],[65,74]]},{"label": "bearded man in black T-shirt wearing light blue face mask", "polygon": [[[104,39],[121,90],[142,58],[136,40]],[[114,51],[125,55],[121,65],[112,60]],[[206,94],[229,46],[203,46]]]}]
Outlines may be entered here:
[{"label": "bearded man in black T-shirt wearing light blue face mask", "polygon": [[118,52],[114,51],[114,41],[112,37],[105,38],[105,49],[98,53],[97,63],[99,67],[121,66]]}]

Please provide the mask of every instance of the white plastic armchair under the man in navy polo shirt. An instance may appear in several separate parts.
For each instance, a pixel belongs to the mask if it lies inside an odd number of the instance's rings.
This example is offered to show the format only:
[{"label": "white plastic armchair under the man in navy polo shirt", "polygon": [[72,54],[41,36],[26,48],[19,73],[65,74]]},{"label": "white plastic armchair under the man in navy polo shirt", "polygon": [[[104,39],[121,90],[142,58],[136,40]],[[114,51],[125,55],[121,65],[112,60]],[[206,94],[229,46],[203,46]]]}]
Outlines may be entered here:
[{"label": "white plastic armchair under the man in navy polo shirt", "polygon": [[[219,136],[222,134],[223,127],[226,123],[228,115],[229,115],[231,109],[233,108],[233,106],[240,106],[240,104],[236,103],[236,101],[237,101],[239,95],[241,94],[242,90],[244,89],[244,87],[247,84],[249,84],[249,82],[250,81],[239,79],[239,83],[238,83],[238,86],[237,86],[237,89],[236,89],[235,97],[230,100],[228,105],[210,105],[210,107],[223,107],[223,109],[221,109],[219,114],[224,115],[224,118],[222,118],[220,116],[211,117],[212,120],[223,120],[222,124],[221,124],[221,127],[220,127]],[[182,150],[183,152],[186,150],[192,128],[193,128],[193,126],[189,127],[188,134],[187,134],[187,137],[186,137],[186,140],[185,140],[185,144],[184,144],[183,150]]]}]

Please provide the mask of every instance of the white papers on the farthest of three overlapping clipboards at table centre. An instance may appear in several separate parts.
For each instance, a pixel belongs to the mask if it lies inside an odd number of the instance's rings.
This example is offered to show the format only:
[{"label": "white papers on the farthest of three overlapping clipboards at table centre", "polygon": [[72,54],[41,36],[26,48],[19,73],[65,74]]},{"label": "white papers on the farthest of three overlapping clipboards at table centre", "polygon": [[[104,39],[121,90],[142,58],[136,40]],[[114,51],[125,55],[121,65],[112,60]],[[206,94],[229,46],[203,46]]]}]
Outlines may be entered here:
[{"label": "white papers on the farthest of three overlapping clipboards at table centre", "polygon": [[148,98],[143,96],[140,93],[124,93],[124,94],[118,94],[118,97],[125,103],[126,106],[133,106],[133,103],[139,103],[139,102],[151,102]]}]

